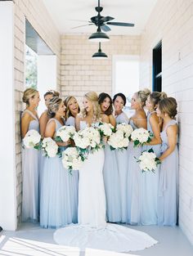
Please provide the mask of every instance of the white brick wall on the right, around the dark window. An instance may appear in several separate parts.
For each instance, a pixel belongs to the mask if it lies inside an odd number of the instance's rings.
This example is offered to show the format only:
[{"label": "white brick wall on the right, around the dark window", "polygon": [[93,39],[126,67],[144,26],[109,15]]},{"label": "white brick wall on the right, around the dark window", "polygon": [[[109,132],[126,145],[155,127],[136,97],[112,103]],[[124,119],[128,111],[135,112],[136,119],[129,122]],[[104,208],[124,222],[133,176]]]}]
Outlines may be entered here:
[{"label": "white brick wall on the right, around the dark window", "polygon": [[159,0],[141,35],[141,85],[152,84],[152,48],[162,40],[163,91],[177,98],[179,225],[193,244],[193,1]]}]

